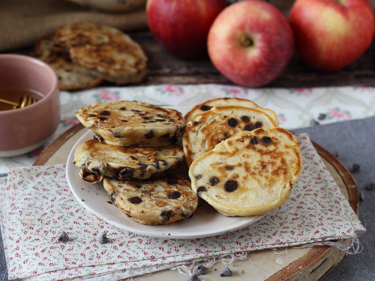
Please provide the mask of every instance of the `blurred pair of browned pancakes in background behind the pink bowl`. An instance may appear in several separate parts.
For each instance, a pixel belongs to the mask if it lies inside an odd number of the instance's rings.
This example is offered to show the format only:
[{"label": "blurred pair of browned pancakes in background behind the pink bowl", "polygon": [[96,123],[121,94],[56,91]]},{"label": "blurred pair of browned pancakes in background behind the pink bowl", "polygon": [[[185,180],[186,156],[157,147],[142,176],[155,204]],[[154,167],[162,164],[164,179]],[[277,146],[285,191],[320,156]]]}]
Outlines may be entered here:
[{"label": "blurred pair of browned pancakes in background behind the pink bowl", "polygon": [[39,40],[30,53],[56,72],[62,90],[141,82],[147,57],[141,46],[117,28],[90,22],[68,24]]}]

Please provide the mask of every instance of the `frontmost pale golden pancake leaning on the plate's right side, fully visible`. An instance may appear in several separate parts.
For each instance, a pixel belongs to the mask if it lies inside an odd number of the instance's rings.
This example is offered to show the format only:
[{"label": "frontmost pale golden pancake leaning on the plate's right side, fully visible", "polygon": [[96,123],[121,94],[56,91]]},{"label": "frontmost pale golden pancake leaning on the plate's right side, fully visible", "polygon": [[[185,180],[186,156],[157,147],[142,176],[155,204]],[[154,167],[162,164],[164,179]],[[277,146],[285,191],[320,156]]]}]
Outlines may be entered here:
[{"label": "frontmost pale golden pancake leaning on the plate's right side, fully visible", "polygon": [[264,215],[284,204],[302,171],[299,143],[279,127],[242,132],[194,160],[192,189],[227,216]]}]

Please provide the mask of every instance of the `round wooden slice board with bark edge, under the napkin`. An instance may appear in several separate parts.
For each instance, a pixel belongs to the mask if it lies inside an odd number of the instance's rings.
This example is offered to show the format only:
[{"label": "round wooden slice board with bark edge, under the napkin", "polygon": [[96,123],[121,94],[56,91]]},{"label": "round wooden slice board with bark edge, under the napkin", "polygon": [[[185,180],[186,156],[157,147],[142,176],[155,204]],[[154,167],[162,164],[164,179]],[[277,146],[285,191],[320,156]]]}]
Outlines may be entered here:
[{"label": "round wooden slice board with bark edge, under the napkin", "polygon": [[[78,124],[51,143],[34,163],[34,166],[66,163],[69,152],[77,140],[85,133],[85,129]],[[314,143],[322,160],[326,164],[344,196],[354,212],[358,214],[359,193],[356,181],[349,170],[334,155],[322,146]],[[347,240],[347,241],[346,241]],[[345,239],[342,243],[351,241]],[[231,263],[234,280],[320,280],[324,275],[338,265],[345,257],[345,251],[337,247],[314,246],[310,248],[287,248],[273,250],[252,251],[247,260],[237,260]],[[216,263],[204,275],[207,281],[217,280],[218,272],[226,265]],[[214,269],[217,269],[216,271]],[[154,272],[150,276],[140,276],[139,281],[185,280],[177,271],[163,270]],[[231,279],[232,280],[232,279]]]}]

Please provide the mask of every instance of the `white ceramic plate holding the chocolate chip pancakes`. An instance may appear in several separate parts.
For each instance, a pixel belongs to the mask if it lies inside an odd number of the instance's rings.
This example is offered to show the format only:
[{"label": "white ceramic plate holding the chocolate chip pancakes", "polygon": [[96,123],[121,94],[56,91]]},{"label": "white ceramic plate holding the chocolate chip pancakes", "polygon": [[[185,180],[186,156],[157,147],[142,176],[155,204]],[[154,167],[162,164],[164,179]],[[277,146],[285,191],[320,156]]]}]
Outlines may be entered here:
[{"label": "white ceramic plate holding the chocolate chip pancakes", "polygon": [[[179,110],[183,114],[187,112],[184,107],[174,107],[174,109]],[[102,183],[88,184],[84,182],[79,175],[80,170],[73,165],[74,151],[77,145],[92,139],[92,137],[92,131],[87,130],[87,133],[72,148],[66,163],[66,179],[77,201],[87,211],[113,226],[152,237],[192,239],[219,235],[240,229],[255,223],[263,217],[226,217],[217,212],[204,200],[199,199],[199,206],[193,213],[193,216],[189,219],[183,219],[177,224],[148,226],[137,223],[126,217],[123,212],[112,205]]]}]

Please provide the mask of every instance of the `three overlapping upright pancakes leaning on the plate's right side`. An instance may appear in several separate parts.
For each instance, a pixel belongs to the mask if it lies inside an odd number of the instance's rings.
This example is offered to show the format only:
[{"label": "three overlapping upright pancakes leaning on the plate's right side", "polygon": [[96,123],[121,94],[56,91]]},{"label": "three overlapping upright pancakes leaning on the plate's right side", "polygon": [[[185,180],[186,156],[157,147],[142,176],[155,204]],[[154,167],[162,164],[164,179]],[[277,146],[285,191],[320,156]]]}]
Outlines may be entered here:
[{"label": "three overlapping upright pancakes leaning on the plate's right side", "polygon": [[228,216],[284,204],[302,171],[299,143],[275,112],[249,100],[208,100],[185,115],[183,150],[192,189]]}]

